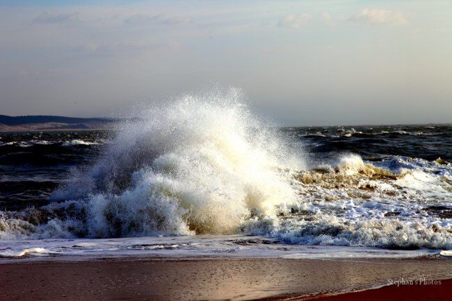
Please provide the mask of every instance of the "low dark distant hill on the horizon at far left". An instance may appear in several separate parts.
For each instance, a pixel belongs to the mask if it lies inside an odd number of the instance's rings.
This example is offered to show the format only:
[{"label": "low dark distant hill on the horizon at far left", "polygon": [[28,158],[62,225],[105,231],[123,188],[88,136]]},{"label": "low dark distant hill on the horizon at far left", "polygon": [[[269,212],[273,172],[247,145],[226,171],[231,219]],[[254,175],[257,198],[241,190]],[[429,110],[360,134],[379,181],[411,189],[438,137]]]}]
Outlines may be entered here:
[{"label": "low dark distant hill on the horizon at far left", "polygon": [[113,119],[78,118],[63,116],[7,116],[0,115],[0,131],[35,131],[35,130],[97,130],[108,127]]}]

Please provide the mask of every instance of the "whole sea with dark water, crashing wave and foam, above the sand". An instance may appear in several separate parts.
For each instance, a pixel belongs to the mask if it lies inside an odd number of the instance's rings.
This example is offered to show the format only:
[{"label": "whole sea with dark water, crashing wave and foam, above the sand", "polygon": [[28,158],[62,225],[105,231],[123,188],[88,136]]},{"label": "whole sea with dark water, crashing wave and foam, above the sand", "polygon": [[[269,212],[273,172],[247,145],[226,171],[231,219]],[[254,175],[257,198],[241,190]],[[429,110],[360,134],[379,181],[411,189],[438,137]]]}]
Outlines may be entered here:
[{"label": "whole sea with dark water, crashing wave and foam, above the sand", "polygon": [[0,133],[2,260],[452,249],[451,125],[281,127],[234,95],[132,116]]}]

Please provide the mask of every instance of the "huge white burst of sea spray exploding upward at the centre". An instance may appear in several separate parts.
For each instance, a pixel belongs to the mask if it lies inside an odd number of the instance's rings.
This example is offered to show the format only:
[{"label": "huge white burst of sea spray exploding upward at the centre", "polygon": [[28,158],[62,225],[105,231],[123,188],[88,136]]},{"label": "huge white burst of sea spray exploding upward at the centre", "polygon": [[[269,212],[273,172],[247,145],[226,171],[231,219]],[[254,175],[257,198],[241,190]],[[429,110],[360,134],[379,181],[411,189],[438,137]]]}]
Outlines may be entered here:
[{"label": "huge white burst of sea spray exploding upward at the centre", "polygon": [[82,204],[86,236],[220,234],[243,221],[277,223],[293,203],[286,143],[241,103],[236,89],[185,95],[120,123],[88,171],[53,200]]}]

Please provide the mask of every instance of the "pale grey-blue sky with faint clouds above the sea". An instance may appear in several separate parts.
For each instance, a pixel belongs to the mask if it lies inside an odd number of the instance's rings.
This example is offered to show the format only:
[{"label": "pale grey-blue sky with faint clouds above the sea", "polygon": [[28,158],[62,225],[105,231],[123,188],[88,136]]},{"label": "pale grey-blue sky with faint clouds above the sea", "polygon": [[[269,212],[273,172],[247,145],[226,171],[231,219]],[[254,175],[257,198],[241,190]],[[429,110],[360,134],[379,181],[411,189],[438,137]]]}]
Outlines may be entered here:
[{"label": "pale grey-blue sky with faint clouds above the sea", "polygon": [[236,87],[290,126],[452,122],[452,1],[0,0],[0,114]]}]

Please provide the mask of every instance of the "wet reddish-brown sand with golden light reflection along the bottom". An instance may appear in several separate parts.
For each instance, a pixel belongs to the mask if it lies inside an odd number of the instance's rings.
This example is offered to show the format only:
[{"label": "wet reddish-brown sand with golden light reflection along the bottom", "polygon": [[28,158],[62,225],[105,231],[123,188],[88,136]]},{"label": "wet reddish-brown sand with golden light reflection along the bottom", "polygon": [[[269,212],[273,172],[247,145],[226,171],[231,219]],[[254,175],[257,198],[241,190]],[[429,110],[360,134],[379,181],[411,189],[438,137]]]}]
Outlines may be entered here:
[{"label": "wet reddish-brown sand with golden light reflection along the bottom", "polygon": [[[99,259],[0,264],[1,300],[212,300],[325,298],[393,281],[452,278],[450,259]],[[401,297],[439,285],[392,287]],[[387,292],[388,288],[370,293]],[[428,293],[430,290],[430,293]],[[451,292],[451,289],[448,291]],[[357,293],[357,294],[362,294]],[[391,293],[389,293],[391,294]],[[353,294],[347,294],[348,296]],[[327,297],[326,300],[347,295]],[[432,295],[433,296],[433,295]],[[354,300],[371,300],[357,298]],[[333,298],[333,299],[328,299]],[[381,299],[381,298],[380,298]],[[378,300],[380,300],[378,299]],[[352,299],[353,300],[353,299]],[[398,298],[397,300],[401,300]]]}]

